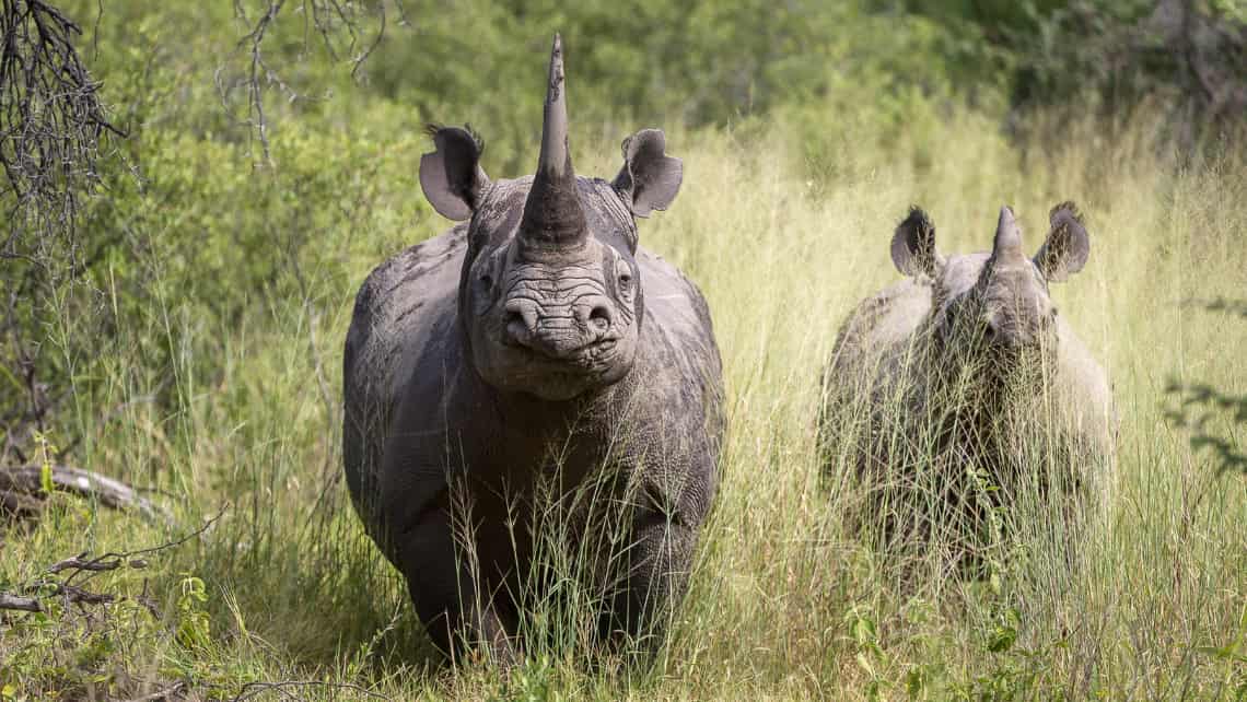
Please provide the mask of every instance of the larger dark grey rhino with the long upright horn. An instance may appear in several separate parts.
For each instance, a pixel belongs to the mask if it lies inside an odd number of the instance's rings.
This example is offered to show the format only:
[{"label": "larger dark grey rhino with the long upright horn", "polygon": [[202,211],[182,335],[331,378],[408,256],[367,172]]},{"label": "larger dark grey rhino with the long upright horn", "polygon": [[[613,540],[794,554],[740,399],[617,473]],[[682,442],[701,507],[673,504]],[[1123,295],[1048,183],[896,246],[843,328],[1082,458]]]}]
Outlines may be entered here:
[{"label": "larger dark grey rhino with the long upright horn", "polygon": [[491,181],[475,135],[430,127],[420,185],[465,222],[373,271],[347,334],[344,463],[368,534],[443,651],[504,662],[559,576],[544,557],[601,571],[604,636],[662,633],[723,433],[706,302],[637,246],[635,217],[667,208],[682,163],[643,130],[612,181],[576,176],[566,106],[555,36],[535,176]]}]

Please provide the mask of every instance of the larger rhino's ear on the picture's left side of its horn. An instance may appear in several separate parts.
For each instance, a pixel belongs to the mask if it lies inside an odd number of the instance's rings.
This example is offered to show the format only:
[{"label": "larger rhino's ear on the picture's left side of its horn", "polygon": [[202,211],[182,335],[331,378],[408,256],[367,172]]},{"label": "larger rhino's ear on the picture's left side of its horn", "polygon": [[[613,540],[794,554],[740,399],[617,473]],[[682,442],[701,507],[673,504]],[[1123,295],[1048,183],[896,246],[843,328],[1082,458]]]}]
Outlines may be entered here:
[{"label": "larger rhino's ear on the picture's left side of its horn", "polygon": [[420,188],[439,214],[456,222],[471,217],[489,176],[480,168],[484,142],[471,127],[429,125],[436,151],[420,157]]}]

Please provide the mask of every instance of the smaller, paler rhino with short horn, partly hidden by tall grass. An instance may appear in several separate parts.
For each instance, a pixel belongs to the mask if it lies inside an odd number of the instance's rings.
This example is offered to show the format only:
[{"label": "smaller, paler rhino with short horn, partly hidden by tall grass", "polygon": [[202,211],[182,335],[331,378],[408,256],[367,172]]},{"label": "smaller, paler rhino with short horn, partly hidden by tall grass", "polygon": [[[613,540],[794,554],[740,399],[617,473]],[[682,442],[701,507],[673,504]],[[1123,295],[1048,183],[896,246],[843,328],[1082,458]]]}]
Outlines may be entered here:
[{"label": "smaller, paler rhino with short horn, partly hidden by tall grass", "polygon": [[1003,207],[990,252],[945,258],[930,217],[912,208],[892,238],[908,278],[840,328],[819,439],[829,471],[848,464],[865,483],[867,514],[892,539],[938,532],[973,559],[1000,507],[1057,495],[1046,501],[1075,534],[1081,507],[1110,494],[1109,382],[1049,296],[1090,242],[1072,202],[1049,219],[1034,257]]}]

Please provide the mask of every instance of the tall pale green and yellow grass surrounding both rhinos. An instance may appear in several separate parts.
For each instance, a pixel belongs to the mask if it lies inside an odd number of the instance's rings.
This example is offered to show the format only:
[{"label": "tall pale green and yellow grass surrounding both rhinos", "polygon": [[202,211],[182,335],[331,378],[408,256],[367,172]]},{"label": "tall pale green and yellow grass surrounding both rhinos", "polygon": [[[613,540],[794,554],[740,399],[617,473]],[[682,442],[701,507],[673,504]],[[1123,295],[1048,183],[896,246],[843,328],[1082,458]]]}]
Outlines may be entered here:
[{"label": "tall pale green and yellow grass surrounding both rhinos", "polygon": [[[1247,392],[1247,324],[1188,302],[1247,297],[1242,143],[1180,166],[1150,146],[1143,122],[1112,133],[1072,125],[1060,143],[1021,146],[973,113],[889,133],[887,143],[869,125],[843,141],[807,140],[803,123],[668,133],[685,160],[683,190],[670,212],[641,223],[642,246],[677,263],[710,302],[729,418],[691,591],[653,666],[591,665],[575,632],[534,637],[546,642],[510,676],[486,661],[441,667],[429,648],[339,479],[339,369],[370,267],[446,222],[413,204],[414,177],[372,183],[360,173],[309,191],[365,206],[347,221],[309,222],[301,234],[314,238],[286,261],[274,248],[271,278],[258,277],[268,284],[180,288],[170,283],[187,279],[180,259],[162,262],[157,251],[140,268],[153,294],[106,299],[141,303],[141,314],[118,317],[133,324],[121,337],[130,340],[90,365],[61,431],[85,438],[82,464],[155,490],[176,521],[145,524],[57,496],[32,530],[4,536],[0,589],[85,549],[160,544],[224,511],[201,536],[151,556],[150,569],[87,581],[146,592],[163,621],[123,603],[95,622],[0,623],[0,687],[31,698],[138,695],[178,678],[195,695],[226,698],[281,680],[394,698],[1241,695],[1241,660],[1215,650],[1238,642],[1242,656],[1247,636],[1247,490],[1242,476],[1216,479],[1163,413],[1172,379]],[[298,153],[297,140],[313,138],[286,133],[274,141],[279,163]],[[620,137],[584,130],[577,171],[614,173]],[[414,173],[418,152],[378,150],[365,161]],[[181,167],[178,150],[165,153]],[[213,182],[246,182],[249,166],[212,168]],[[222,195],[239,192],[231,187]],[[996,577],[965,580],[897,567],[907,554],[843,527],[858,489],[828,490],[819,475],[819,373],[835,332],[862,297],[897,279],[888,244],[908,204],[933,214],[945,251],[973,251],[986,248],[1009,203],[1038,248],[1047,209],[1067,198],[1086,214],[1091,257],[1052,294],[1107,369],[1121,415],[1105,524],[1075,569],[1019,557]],[[273,212],[301,204],[292,197]],[[228,216],[228,201],[214,207]],[[195,296],[216,289],[258,304],[232,318],[203,313],[212,301]],[[1242,426],[1221,429],[1242,440]],[[1028,534],[1040,540],[1045,529]],[[557,622],[576,621],[575,606],[567,613],[529,626],[557,635]],[[298,695],[364,697],[342,687]]]}]

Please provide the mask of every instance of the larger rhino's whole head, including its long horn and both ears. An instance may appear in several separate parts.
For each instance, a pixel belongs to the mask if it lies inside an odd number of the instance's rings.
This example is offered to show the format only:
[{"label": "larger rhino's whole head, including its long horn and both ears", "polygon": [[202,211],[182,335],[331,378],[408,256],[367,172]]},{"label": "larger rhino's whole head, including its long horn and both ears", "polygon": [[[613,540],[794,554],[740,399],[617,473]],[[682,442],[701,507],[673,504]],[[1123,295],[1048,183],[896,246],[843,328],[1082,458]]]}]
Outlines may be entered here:
[{"label": "larger rhino's whole head, including its long horn and both ears", "polygon": [[471,219],[459,312],[480,377],[547,400],[624,378],[645,313],[633,217],[666,209],[683,172],[663,152],[663,133],[625,140],[624,167],[610,182],[576,176],[559,36],[534,176],[491,182],[471,132],[431,131],[436,151],[420,160],[420,186],[443,216]]}]

